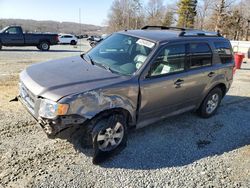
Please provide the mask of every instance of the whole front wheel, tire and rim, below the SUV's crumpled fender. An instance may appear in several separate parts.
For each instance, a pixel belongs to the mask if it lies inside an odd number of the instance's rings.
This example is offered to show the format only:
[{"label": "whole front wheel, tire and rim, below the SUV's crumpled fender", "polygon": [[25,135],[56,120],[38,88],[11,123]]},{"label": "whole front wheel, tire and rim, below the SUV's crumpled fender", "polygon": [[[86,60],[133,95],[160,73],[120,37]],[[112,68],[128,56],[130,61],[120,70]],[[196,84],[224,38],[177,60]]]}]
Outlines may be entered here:
[{"label": "whole front wheel, tire and rim, below the SUV's crumpled fender", "polygon": [[98,164],[120,152],[127,145],[127,123],[123,115],[115,114],[98,121],[92,131],[93,164]]}]

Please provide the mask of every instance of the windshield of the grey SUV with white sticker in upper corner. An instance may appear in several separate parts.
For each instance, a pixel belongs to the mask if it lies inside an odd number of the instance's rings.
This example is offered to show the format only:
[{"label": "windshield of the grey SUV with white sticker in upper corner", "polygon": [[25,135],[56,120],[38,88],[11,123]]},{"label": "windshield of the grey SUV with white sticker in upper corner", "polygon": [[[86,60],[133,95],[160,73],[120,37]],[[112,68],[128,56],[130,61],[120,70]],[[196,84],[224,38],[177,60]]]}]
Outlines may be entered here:
[{"label": "windshield of the grey SUV with white sticker in upper corner", "polygon": [[155,43],[115,33],[90,50],[84,58],[122,75],[132,75],[145,63]]}]

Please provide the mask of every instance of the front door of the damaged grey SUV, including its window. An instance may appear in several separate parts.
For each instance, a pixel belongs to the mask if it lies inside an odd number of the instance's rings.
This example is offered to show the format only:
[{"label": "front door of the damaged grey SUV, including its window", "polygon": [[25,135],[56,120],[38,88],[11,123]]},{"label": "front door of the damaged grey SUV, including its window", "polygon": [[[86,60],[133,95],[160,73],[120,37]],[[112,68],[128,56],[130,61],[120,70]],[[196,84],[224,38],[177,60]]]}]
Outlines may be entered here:
[{"label": "front door of the damaged grey SUV, including its window", "polygon": [[191,106],[185,95],[190,88],[186,81],[186,46],[174,44],[163,47],[153,60],[147,78],[141,78],[138,126]]}]

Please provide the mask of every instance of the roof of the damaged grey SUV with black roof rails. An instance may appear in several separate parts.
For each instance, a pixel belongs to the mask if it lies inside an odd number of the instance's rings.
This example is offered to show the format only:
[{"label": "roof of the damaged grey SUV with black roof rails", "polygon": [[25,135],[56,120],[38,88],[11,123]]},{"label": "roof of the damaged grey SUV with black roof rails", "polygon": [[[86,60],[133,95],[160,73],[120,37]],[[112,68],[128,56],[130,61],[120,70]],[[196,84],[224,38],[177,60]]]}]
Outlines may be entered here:
[{"label": "roof of the damaged grey SUV with black roof rails", "polygon": [[[150,27],[150,26],[146,26]],[[148,39],[155,42],[166,42],[170,40],[181,40],[183,38],[193,39],[193,38],[220,38],[224,39],[219,33],[216,32],[209,32],[209,31],[202,31],[196,29],[184,29],[184,28],[146,28],[141,30],[124,30],[120,31],[121,34],[132,35],[139,38]]]}]

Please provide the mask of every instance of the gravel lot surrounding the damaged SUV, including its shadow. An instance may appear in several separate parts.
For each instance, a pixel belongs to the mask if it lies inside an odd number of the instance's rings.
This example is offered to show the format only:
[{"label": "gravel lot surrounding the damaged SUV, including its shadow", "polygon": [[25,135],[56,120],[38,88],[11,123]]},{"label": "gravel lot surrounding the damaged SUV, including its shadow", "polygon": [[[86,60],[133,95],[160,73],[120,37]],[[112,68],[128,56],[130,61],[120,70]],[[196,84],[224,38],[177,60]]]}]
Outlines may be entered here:
[{"label": "gravel lot surrounding the damaged SUV, including its shadow", "polygon": [[91,150],[48,139],[21,104],[8,102],[26,66],[79,51],[0,51],[0,187],[250,187],[250,63],[214,117],[186,113],[133,131],[125,150],[94,166]]}]

